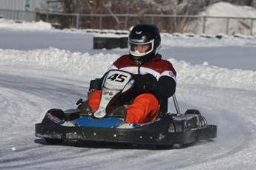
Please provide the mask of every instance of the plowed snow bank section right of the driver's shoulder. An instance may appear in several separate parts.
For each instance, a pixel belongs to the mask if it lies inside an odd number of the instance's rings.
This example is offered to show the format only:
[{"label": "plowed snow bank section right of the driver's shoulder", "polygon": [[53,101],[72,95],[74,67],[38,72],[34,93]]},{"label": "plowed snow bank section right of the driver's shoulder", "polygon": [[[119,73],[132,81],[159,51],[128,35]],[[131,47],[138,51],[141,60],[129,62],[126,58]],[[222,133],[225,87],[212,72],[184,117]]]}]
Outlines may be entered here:
[{"label": "plowed snow bank section right of the driver's shoulder", "polygon": [[254,71],[213,67],[206,63],[191,65],[185,61],[169,61],[177,69],[177,80],[180,83],[256,91]]}]

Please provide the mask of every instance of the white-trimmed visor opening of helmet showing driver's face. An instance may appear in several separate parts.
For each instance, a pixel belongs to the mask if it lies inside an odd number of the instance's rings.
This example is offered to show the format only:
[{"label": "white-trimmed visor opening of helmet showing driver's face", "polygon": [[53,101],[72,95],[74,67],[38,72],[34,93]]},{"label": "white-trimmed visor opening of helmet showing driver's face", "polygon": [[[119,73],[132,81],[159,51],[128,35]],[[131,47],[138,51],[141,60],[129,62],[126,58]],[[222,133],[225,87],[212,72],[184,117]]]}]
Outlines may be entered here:
[{"label": "white-trimmed visor opening of helmet showing driver's face", "polygon": [[131,55],[140,58],[154,50],[154,39],[148,42],[134,42],[128,40],[128,49]]}]

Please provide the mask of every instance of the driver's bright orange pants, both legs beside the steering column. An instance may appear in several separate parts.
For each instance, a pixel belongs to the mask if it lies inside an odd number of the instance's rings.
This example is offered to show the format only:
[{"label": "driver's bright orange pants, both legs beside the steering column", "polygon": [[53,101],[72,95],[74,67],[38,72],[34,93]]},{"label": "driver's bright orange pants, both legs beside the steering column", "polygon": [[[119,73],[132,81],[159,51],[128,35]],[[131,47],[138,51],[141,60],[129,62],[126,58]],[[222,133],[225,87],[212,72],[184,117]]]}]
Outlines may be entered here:
[{"label": "driver's bright orange pants, both legs beside the steering column", "polygon": [[[93,112],[99,107],[101,91],[96,90],[91,93],[88,104]],[[157,117],[159,106],[157,98],[150,93],[138,95],[134,103],[128,105],[126,111],[125,122],[127,123],[147,123],[153,121]]]}]

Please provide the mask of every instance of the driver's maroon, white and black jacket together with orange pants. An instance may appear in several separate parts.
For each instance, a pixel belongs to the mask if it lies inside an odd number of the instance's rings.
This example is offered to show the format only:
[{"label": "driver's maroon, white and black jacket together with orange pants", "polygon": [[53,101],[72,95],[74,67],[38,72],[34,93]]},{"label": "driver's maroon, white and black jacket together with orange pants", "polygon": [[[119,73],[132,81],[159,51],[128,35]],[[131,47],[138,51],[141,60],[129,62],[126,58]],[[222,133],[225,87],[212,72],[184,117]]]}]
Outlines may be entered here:
[{"label": "driver's maroon, white and black jacket together with orange pants", "polygon": [[[112,69],[123,70],[134,75],[151,74],[157,79],[154,88],[150,91],[134,92],[133,95],[124,97],[124,101],[132,101],[128,104],[126,111],[125,121],[128,123],[147,123],[155,120],[159,111],[159,101],[174,95],[177,72],[169,61],[162,59],[160,54],[145,64],[134,61],[129,55],[122,55],[114,61],[108,71]],[[100,90],[96,90],[88,99],[93,112],[96,112],[99,107],[100,93]],[[130,98],[127,99],[127,97]]]}]

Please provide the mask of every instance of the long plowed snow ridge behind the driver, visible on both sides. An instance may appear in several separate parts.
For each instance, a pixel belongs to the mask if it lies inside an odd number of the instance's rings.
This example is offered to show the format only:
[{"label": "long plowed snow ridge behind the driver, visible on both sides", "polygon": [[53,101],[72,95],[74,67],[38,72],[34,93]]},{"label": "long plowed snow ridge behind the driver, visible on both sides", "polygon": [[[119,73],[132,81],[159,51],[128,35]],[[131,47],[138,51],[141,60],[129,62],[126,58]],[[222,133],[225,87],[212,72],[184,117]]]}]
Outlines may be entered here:
[{"label": "long plowed snow ridge behind the driver, visible on both sides", "polygon": [[[45,50],[19,51],[0,50],[0,65],[5,67],[19,64],[19,67],[29,67],[32,71],[38,67],[61,70],[65,74],[89,75],[97,78],[103,75],[119,55],[104,55],[102,53],[69,52],[49,48]],[[185,61],[168,59],[177,69],[178,84],[200,84],[223,88],[247,89],[256,91],[256,72],[242,69],[224,69],[212,67],[206,63],[191,65]]]}]

